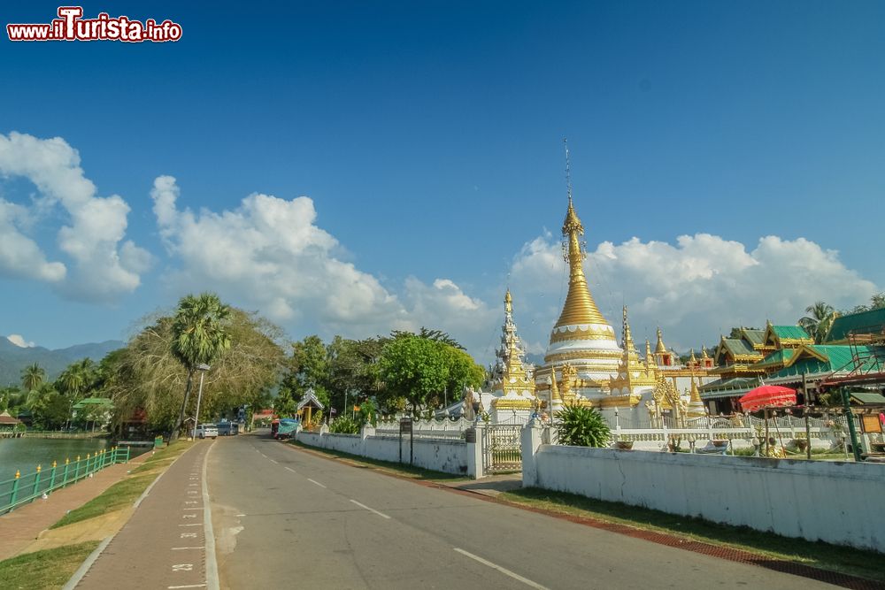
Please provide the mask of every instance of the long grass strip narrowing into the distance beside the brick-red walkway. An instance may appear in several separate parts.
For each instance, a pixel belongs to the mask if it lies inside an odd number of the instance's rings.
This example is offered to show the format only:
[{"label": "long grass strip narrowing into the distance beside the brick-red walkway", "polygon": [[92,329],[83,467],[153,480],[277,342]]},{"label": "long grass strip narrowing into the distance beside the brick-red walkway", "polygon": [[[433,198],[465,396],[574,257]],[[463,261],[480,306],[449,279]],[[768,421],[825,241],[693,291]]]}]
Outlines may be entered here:
[{"label": "long grass strip narrowing into the distance beside the brick-red walkway", "polygon": [[100,517],[113,510],[131,505],[150,486],[150,482],[157,479],[160,471],[172,464],[178,456],[190,448],[191,444],[193,443],[189,441],[175,441],[168,447],[154,453],[129,473],[126,478],[107,488],[102,494],[97,495],[80,508],[65,514],[55,525],[50,526],[50,529],[73,525],[73,523]]}]

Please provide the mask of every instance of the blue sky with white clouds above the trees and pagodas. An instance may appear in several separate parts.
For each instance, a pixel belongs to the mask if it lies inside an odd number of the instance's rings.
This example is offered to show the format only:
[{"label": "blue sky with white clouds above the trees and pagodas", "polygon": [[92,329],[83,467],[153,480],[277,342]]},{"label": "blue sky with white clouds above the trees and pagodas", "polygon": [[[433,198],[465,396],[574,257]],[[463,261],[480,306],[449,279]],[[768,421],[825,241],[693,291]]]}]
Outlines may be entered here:
[{"label": "blue sky with white clouds above the trees and pagodas", "polygon": [[[87,2],[165,43],[0,38],[0,334],[125,340],[211,290],[298,340],[543,353],[567,288],[637,341],[885,289],[881,2]],[[5,7],[49,23],[58,4]]]}]

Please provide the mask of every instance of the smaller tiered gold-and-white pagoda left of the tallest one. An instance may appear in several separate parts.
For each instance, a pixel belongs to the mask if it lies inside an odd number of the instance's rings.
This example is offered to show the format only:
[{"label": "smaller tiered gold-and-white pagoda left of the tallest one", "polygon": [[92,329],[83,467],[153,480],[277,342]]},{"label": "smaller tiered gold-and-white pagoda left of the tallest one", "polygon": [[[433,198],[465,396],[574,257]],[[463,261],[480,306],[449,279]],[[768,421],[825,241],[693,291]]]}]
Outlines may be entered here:
[{"label": "smaller tiered gold-and-white pagoda left of the tallest one", "polygon": [[513,299],[510,289],[504,295],[504,326],[501,328],[501,347],[497,349],[497,362],[492,370],[492,390],[495,399],[491,406],[496,410],[531,410],[535,400],[534,367],[525,363],[525,351],[516,323],[513,321]]}]

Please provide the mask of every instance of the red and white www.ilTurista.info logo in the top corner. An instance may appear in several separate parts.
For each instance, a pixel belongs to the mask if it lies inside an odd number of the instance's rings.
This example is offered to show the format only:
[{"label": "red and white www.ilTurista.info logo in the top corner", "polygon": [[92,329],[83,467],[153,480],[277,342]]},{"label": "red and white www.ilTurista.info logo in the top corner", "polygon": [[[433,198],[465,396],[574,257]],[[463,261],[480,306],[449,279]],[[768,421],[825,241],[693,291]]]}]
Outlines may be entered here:
[{"label": "red and white www.ilTurista.info logo in the top corner", "polygon": [[129,17],[112,18],[100,12],[95,19],[83,19],[81,6],[59,6],[58,19],[48,25],[9,24],[6,34],[10,41],[143,41],[165,42],[181,39],[181,25],[166,19],[158,23],[147,19],[143,23]]}]

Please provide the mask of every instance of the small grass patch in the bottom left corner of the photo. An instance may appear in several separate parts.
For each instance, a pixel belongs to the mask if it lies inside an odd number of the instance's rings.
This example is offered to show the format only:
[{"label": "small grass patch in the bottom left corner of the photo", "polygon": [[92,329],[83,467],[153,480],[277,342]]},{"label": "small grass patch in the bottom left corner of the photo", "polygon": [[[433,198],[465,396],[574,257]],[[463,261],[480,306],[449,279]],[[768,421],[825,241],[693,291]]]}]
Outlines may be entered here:
[{"label": "small grass patch in the bottom left corner of the photo", "polygon": [[97,540],[35,551],[0,562],[0,588],[44,590],[60,588],[98,547]]}]

